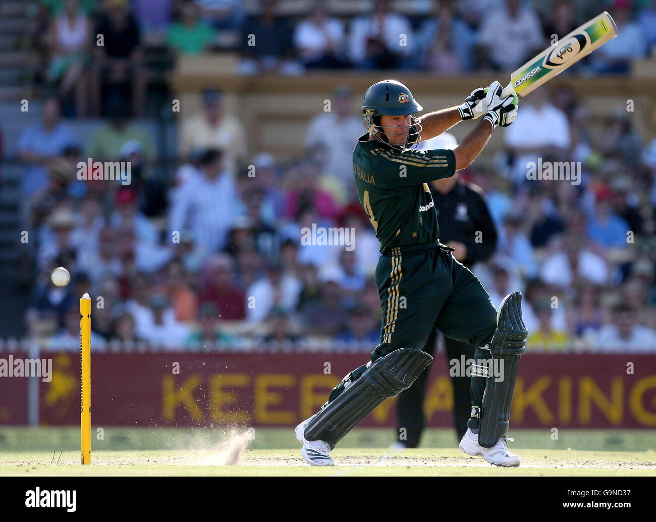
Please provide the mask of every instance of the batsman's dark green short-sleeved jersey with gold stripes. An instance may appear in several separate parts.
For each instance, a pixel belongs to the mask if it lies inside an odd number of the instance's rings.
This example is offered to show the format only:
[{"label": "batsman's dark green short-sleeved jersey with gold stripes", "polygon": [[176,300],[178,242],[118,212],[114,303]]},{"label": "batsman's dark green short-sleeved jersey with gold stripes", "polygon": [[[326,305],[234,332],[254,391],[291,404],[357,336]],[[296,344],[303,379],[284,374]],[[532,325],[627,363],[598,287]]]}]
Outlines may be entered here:
[{"label": "batsman's dark green short-sleeved jersey with gold stripes", "polygon": [[353,171],[380,253],[438,242],[440,227],[428,182],[453,176],[453,150],[401,152],[365,134],[353,151]]}]

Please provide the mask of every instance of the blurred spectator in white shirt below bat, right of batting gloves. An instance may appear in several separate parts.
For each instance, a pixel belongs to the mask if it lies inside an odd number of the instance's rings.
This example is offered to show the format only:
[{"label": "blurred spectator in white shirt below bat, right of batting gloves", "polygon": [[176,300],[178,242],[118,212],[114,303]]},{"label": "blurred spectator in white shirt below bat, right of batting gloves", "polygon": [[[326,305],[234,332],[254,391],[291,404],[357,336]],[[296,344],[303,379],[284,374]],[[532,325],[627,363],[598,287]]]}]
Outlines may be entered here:
[{"label": "blurred spectator in white shirt below bat, right of batting gloves", "polygon": [[571,145],[567,116],[548,101],[544,87],[531,93],[522,111],[503,135],[506,148],[515,158],[512,179],[518,184],[526,181],[529,163],[537,165],[538,158],[544,156],[564,159]]}]

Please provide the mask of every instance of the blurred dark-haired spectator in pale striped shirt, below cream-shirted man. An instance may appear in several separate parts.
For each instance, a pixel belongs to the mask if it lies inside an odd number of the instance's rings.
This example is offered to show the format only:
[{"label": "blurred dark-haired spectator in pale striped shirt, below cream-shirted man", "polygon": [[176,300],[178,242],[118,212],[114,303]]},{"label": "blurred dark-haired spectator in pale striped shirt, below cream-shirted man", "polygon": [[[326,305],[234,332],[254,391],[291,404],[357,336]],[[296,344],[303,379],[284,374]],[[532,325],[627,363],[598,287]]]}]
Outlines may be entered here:
[{"label": "blurred dark-haired spectator in pale striped shirt, below cream-shirted man", "polygon": [[188,179],[175,193],[169,240],[188,230],[198,248],[212,253],[225,245],[242,206],[234,178],[223,168],[218,150],[207,150],[199,165],[201,175]]}]

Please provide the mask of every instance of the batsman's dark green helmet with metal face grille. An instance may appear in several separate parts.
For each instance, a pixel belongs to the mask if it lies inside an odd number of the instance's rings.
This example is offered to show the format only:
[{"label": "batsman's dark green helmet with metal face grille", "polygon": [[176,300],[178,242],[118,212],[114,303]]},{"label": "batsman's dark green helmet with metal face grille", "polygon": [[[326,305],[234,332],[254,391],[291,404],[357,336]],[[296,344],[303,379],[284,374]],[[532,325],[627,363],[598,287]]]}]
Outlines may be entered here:
[{"label": "batsman's dark green helmet with metal face grille", "polygon": [[[390,147],[403,150],[411,148],[421,141],[421,123],[419,118],[410,117],[411,124],[408,125],[408,137],[403,145],[394,145],[386,136],[386,127],[380,126],[380,116],[405,116],[406,114],[417,114],[424,110],[413,97],[410,89],[400,81],[386,79],[374,83],[367,89],[362,103],[362,118],[364,118],[365,129],[375,139],[388,144]],[[391,128],[391,127],[388,127]],[[396,128],[396,127],[395,127]]]}]

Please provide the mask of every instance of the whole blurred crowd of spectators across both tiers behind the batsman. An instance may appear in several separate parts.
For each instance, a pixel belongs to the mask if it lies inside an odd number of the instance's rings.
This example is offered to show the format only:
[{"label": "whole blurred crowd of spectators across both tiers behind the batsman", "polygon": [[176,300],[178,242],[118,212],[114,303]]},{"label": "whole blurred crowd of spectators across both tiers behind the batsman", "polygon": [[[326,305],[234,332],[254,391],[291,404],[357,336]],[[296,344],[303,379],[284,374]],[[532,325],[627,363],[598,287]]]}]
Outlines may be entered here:
[{"label": "whole blurred crowd of spectators across both tiers behind the batsman", "polygon": [[[34,287],[27,321],[30,336],[71,350],[79,348],[78,299],[85,292],[94,299],[94,349],[323,343],[371,351],[379,342],[373,279],[379,244],[358,202],[351,164],[365,131],[351,111],[361,93],[338,87],[333,110],[307,122],[306,152],[282,162],[249,150],[222,92],[206,89],[199,114],[178,121],[179,163],[167,183],[152,174],[155,146],[134,119],[141,114],[144,31],[164,29],[178,53],[211,49],[223,30],[265,35],[270,43],[260,49],[275,54],[260,54],[257,45],[242,49],[244,74],[352,66],[460,74],[482,64],[512,70],[551,33],[569,32],[590,14],[587,2],[557,0],[541,11],[542,3],[467,0],[427,2],[434,11],[410,19],[390,2],[375,1],[371,14],[344,23],[329,16],[329,3],[316,2],[292,24],[274,16],[275,1],[260,2],[258,16],[230,0],[131,6],[110,0],[100,18],[94,0],[42,4],[50,22],[44,33],[49,27],[51,37],[72,43],[79,32],[79,46],[49,47],[53,72],[62,68],[60,91],[43,100],[41,120],[20,136],[24,222],[35,238],[26,244]],[[651,3],[612,6],[621,37],[581,68],[622,74],[627,60],[645,56],[656,40]],[[91,40],[82,34],[91,33],[73,29],[77,24],[106,24],[105,49],[94,49],[104,56],[86,53]],[[125,38],[130,32],[134,38]],[[399,49],[392,33],[406,32],[410,47]],[[115,47],[108,46],[112,33]],[[84,97],[93,95],[94,81],[121,74],[130,78],[131,97],[110,98],[104,125],[77,135],[61,112],[64,91],[81,85],[75,75],[89,75]],[[536,351],[656,351],[656,139],[640,135],[626,110],[608,116],[602,128],[601,135],[590,133],[585,98],[543,87],[523,98],[517,120],[502,131],[504,150],[493,167],[475,162],[461,171],[485,191],[499,234],[492,259],[472,269],[495,305],[523,292]],[[77,164],[87,158],[129,162],[131,183],[78,179]],[[581,176],[577,183],[527,180],[526,165],[538,161],[574,162]],[[304,244],[302,229],[313,227],[354,230],[354,248]],[[50,280],[58,266],[72,274],[66,288]]]}]

